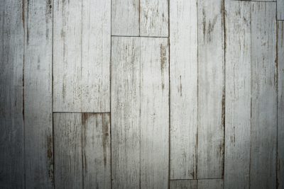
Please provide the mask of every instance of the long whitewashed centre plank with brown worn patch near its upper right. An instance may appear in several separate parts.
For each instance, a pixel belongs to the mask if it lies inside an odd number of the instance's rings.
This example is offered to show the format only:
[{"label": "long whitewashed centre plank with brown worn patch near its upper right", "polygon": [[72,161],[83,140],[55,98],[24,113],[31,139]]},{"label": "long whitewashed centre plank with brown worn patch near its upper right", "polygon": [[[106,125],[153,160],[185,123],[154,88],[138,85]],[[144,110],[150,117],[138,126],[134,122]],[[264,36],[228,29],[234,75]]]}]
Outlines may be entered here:
[{"label": "long whitewashed centre plank with brown worn patch near its upper right", "polygon": [[168,188],[168,39],[141,38],[141,188]]}]

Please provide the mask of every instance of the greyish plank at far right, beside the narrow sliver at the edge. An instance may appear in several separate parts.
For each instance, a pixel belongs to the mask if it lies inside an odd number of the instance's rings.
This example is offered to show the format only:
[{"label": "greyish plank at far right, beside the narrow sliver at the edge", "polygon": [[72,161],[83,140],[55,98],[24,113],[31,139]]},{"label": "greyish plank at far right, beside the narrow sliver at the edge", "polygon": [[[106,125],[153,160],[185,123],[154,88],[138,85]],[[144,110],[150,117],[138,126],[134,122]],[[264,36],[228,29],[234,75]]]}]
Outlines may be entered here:
[{"label": "greyish plank at far right, beside the narrow sliver at the edge", "polygon": [[277,140],[276,4],[251,3],[250,188],[275,188]]}]

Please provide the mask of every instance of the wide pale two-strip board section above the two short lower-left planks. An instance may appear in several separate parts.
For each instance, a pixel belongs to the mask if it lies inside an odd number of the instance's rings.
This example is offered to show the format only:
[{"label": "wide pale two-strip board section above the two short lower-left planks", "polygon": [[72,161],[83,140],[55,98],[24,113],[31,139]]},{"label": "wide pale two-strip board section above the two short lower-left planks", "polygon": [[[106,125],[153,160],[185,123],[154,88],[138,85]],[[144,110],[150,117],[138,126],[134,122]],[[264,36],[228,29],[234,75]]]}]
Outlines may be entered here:
[{"label": "wide pale two-strip board section above the two short lower-left planks", "polygon": [[109,112],[110,0],[54,5],[53,110]]}]

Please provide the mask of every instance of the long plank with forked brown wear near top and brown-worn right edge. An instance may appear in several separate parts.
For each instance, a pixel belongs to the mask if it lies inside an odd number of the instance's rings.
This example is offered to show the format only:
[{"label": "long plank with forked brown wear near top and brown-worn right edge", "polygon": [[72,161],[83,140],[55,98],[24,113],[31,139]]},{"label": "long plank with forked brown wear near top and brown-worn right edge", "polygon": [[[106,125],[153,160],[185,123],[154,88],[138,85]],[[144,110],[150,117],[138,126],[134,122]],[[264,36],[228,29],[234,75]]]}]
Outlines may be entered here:
[{"label": "long plank with forked brown wear near top and brown-worn right edge", "polygon": [[197,178],[222,178],[224,164],[224,1],[198,1]]}]

